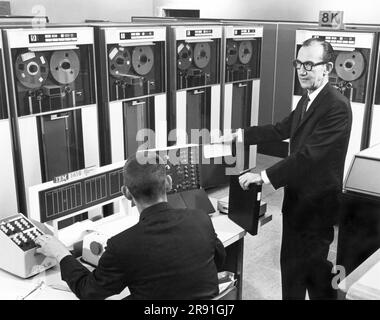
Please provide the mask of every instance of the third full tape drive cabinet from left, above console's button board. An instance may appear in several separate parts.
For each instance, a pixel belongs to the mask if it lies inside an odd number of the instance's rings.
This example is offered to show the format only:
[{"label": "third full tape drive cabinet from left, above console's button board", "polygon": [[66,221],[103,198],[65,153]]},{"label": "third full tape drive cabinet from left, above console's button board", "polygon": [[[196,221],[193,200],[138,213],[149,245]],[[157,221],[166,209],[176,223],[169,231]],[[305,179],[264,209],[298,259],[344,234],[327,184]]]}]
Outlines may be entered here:
[{"label": "third full tape drive cabinet from left, above console's button board", "polygon": [[[222,27],[174,25],[169,32],[169,130],[178,145],[191,141],[192,129],[220,131]],[[201,141],[210,143],[210,137]]]}]

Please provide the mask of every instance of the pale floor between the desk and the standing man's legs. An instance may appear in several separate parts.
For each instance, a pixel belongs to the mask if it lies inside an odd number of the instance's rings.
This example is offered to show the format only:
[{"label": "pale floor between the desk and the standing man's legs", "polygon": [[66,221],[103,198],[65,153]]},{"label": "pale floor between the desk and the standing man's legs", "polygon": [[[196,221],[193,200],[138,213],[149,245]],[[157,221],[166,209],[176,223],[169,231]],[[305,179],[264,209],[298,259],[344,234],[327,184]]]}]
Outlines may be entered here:
[{"label": "pale floor between the desk and the standing man's legs", "polygon": [[[281,158],[257,155],[255,172],[260,172]],[[243,300],[280,300],[280,247],[282,234],[281,204],[283,189],[275,190],[271,185],[263,186],[262,201],[267,203],[267,214],[272,220],[259,227],[258,234],[247,233],[244,238]],[[337,229],[330,246],[329,260],[336,261]]]}]

